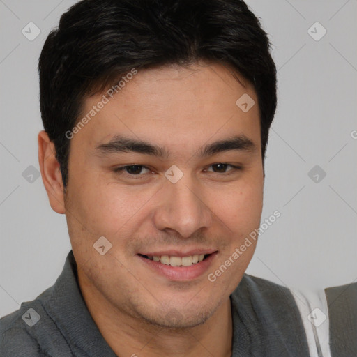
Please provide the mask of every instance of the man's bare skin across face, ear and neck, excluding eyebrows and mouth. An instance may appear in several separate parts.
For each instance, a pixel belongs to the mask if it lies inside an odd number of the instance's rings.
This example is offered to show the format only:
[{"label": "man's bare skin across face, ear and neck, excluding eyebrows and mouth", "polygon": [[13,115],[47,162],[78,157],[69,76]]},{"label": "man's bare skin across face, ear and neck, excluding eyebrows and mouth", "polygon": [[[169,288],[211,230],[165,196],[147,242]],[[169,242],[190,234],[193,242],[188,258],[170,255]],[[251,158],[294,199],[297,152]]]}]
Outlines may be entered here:
[{"label": "man's bare skin across face, ear and neck, excluding eyebrows and mouth", "polygon": [[[52,209],[66,214],[84,301],[119,356],[231,356],[229,295],[256,243],[215,282],[207,275],[259,227],[264,186],[258,105],[246,113],[236,105],[244,93],[255,103],[257,96],[238,78],[218,63],[140,70],[70,140],[66,193],[54,146],[46,132],[38,135],[43,182]],[[86,98],[82,114],[101,98]],[[115,134],[158,144],[170,155],[98,155],[96,146]],[[245,135],[255,149],[197,155],[231,135]],[[218,170],[213,164],[220,162],[242,169]],[[139,179],[113,171],[123,165],[148,169],[138,170]],[[183,172],[174,184],[165,177],[172,165]],[[112,243],[105,255],[93,249],[100,236]],[[204,274],[188,281],[158,275],[137,256],[189,248],[217,253]]]}]

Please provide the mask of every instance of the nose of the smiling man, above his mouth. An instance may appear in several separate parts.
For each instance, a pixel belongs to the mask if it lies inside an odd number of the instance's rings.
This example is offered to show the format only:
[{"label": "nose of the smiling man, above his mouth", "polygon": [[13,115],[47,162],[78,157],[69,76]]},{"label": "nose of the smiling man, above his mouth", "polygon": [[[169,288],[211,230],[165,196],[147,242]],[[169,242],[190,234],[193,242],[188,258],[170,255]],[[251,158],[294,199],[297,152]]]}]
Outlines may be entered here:
[{"label": "nose of the smiling man, above his mouth", "polygon": [[186,174],[176,183],[166,181],[160,190],[160,204],[153,215],[154,225],[160,230],[174,230],[183,238],[211,226],[212,215],[204,190]]}]

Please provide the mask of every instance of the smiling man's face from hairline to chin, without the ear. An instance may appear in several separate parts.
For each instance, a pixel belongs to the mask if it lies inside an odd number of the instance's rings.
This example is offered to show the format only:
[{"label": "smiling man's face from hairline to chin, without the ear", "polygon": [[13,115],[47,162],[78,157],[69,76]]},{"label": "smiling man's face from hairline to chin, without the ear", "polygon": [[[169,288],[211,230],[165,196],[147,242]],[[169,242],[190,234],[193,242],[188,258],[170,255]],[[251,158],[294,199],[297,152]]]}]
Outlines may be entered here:
[{"label": "smiling man's face from hairline to chin, without the ear", "polygon": [[[141,70],[70,140],[79,278],[114,310],[196,326],[240,282],[255,242],[234,252],[259,227],[264,174],[258,105],[236,105],[257,97],[239,79],[208,63]],[[87,98],[82,116],[100,100]]]}]

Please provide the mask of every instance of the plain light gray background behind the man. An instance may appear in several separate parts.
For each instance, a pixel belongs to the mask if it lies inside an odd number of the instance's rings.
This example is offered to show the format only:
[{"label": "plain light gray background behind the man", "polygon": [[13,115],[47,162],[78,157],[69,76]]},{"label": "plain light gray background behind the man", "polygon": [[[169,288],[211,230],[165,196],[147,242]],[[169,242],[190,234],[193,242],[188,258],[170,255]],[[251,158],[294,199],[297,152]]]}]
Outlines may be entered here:
[{"label": "plain light gray background behind the man", "polygon": [[[38,166],[38,56],[47,34],[75,1],[0,0],[0,316],[50,287],[70,242]],[[357,280],[356,0],[247,1],[273,42],[278,112],[266,159],[262,220],[281,217],[259,238],[248,273],[312,291]],[[29,22],[40,35],[29,41]],[[314,40],[315,22],[327,30]],[[319,29],[312,31],[321,33]],[[320,31],[320,32],[319,32]],[[319,165],[326,177],[308,172]]]}]

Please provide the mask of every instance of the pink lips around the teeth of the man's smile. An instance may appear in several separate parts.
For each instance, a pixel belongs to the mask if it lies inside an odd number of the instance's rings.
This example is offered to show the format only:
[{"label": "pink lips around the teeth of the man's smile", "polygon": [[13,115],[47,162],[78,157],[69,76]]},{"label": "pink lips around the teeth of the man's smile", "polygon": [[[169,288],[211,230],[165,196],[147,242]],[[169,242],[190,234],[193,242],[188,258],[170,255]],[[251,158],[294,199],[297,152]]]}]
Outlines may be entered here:
[{"label": "pink lips around the teeth of the man's smile", "polygon": [[[197,251],[198,250],[195,250],[195,252]],[[170,253],[172,253],[171,255],[175,255],[175,253],[172,251],[170,251]],[[204,253],[202,252],[201,254]],[[136,257],[138,257],[138,259],[140,259],[140,261],[142,261],[143,264],[146,264],[146,267],[149,267],[154,273],[159,274],[160,276],[163,276],[171,281],[184,282],[184,281],[195,280],[199,278],[201,275],[203,275],[206,271],[208,271],[208,268],[211,266],[213,259],[215,259],[215,256],[218,254],[218,251],[213,251],[212,253],[206,253],[206,254],[209,254],[209,256],[206,257],[206,259],[200,261],[199,263],[192,264],[191,266],[171,266],[171,265],[162,264],[160,263],[160,261],[153,261],[144,258],[141,255],[136,255]],[[170,255],[170,254],[160,253],[160,255]],[[192,254],[182,255],[181,253],[180,255],[176,255],[176,256],[188,257],[189,255]]]}]

